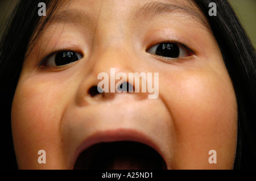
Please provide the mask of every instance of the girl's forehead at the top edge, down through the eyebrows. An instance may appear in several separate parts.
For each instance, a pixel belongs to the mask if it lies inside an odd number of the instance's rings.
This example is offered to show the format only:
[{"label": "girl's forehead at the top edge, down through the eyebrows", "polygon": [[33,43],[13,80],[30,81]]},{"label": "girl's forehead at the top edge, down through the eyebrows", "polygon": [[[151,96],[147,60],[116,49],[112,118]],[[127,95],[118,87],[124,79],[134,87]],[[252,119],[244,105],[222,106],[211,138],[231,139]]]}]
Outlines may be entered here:
[{"label": "girl's forehead at the top edge, down through the eyebrows", "polygon": [[192,0],[69,0],[60,2],[60,6],[49,17],[48,23],[77,25],[86,22],[95,26],[100,14],[130,22],[150,21],[158,16],[179,14],[210,30],[207,18]]}]

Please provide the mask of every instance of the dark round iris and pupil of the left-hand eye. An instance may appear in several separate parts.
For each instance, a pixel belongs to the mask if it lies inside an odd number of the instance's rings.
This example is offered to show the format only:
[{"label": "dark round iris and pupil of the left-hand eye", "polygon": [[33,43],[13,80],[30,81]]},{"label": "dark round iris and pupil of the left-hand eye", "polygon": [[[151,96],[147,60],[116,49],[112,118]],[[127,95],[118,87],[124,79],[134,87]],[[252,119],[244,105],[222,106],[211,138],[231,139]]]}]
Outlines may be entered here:
[{"label": "dark round iris and pupil of the left-hand eye", "polygon": [[55,56],[55,64],[57,66],[69,64],[77,60],[78,60],[78,57],[73,52],[59,52]]}]

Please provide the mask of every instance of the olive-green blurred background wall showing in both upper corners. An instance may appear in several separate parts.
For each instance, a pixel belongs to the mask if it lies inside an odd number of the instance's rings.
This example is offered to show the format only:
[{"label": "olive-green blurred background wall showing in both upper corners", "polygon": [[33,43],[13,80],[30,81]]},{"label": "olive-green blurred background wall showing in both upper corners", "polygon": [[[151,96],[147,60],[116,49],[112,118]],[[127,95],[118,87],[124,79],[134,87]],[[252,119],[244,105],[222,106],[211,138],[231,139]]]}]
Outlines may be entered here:
[{"label": "olive-green blurred background wall showing in both upper corners", "polygon": [[[10,11],[17,1],[18,0],[0,0],[0,35],[2,35],[2,24],[5,23],[6,18],[9,16]],[[236,11],[237,16],[253,42],[254,47],[256,47],[256,0],[228,1],[232,4],[233,9]]]}]

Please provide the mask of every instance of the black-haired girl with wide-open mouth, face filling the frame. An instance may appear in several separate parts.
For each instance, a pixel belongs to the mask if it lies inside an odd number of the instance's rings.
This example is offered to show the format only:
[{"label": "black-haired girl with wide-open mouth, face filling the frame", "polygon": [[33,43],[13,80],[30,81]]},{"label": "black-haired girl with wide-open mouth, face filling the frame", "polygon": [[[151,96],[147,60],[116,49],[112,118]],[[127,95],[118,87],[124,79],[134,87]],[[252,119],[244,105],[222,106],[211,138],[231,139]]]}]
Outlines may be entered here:
[{"label": "black-haired girl with wide-open mouth, face filling the frame", "polygon": [[[6,168],[255,169],[255,50],[227,1],[39,2],[1,41]],[[112,68],[159,73],[158,98],[98,92]]]}]

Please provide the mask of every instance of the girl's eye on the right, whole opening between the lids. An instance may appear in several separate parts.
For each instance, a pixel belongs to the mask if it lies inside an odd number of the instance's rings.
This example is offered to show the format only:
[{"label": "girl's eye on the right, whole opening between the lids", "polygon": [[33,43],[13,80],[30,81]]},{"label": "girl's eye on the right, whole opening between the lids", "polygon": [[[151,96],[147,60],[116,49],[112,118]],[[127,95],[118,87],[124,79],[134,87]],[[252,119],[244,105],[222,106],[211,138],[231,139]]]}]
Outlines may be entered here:
[{"label": "girl's eye on the right, whole opening between the lids", "polygon": [[180,58],[191,56],[192,51],[188,50],[187,47],[185,48],[185,45],[179,45],[177,43],[160,43],[149,48],[147,52],[162,57]]}]

